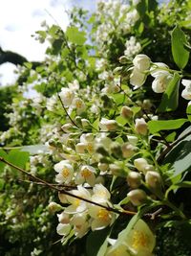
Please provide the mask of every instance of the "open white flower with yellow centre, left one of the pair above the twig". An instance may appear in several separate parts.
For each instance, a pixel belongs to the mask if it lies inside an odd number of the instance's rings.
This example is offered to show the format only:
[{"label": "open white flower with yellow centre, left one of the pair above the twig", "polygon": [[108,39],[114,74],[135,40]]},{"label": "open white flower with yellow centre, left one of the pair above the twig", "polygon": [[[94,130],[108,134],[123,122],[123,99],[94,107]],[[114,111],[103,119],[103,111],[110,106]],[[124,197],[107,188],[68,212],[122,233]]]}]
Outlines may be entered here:
[{"label": "open white flower with yellow centre, left one of the pair above the twig", "polygon": [[58,175],[55,176],[55,181],[58,183],[69,183],[74,176],[74,168],[68,160],[62,160],[54,165],[55,172]]}]

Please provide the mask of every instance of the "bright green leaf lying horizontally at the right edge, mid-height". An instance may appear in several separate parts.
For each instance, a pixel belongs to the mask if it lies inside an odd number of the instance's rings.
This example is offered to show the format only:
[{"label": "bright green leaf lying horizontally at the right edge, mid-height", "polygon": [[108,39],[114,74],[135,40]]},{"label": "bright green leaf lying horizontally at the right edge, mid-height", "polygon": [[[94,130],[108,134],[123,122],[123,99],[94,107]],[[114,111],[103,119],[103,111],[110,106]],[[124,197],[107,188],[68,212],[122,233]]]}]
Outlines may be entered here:
[{"label": "bright green leaf lying horizontally at the right edge, mid-height", "polygon": [[148,128],[151,133],[156,133],[159,130],[169,130],[180,128],[187,119],[176,119],[176,120],[152,120],[148,122]]}]

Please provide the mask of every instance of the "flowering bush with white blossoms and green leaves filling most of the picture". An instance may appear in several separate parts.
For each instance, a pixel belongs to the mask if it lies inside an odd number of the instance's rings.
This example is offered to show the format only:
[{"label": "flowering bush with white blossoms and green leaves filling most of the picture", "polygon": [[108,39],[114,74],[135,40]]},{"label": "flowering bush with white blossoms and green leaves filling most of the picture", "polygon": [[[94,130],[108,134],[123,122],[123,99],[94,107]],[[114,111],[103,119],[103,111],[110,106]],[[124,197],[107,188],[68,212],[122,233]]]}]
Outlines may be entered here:
[{"label": "flowering bush with white blossoms and green leaves filling most of the picture", "polygon": [[190,255],[163,237],[190,234],[189,7],[103,1],[36,33],[4,105],[1,254]]}]

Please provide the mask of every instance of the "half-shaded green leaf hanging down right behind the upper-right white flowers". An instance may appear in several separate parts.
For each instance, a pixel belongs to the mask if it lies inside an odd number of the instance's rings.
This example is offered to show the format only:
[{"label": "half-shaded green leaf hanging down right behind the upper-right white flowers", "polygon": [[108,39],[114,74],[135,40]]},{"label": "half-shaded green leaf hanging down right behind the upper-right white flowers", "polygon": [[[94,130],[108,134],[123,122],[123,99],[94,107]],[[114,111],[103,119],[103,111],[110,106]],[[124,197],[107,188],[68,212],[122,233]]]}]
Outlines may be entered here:
[{"label": "half-shaded green leaf hanging down right behind the upper-right white flowers", "polygon": [[173,79],[168,83],[166,91],[163,93],[158,112],[176,110],[179,105],[180,75],[174,74]]}]

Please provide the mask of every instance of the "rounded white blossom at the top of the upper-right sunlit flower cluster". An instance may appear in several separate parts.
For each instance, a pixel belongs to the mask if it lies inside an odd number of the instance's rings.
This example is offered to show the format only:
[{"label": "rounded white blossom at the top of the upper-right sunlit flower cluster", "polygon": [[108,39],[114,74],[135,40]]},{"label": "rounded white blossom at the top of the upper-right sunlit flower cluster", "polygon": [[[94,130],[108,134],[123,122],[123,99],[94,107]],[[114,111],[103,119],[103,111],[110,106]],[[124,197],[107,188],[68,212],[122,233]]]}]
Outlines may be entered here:
[{"label": "rounded white blossom at the top of the upper-right sunlit flower cluster", "polygon": [[151,58],[146,55],[137,55],[133,59],[133,64],[139,72],[144,72],[145,70],[149,69],[151,64]]}]

